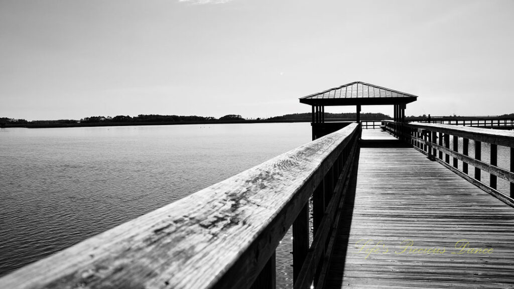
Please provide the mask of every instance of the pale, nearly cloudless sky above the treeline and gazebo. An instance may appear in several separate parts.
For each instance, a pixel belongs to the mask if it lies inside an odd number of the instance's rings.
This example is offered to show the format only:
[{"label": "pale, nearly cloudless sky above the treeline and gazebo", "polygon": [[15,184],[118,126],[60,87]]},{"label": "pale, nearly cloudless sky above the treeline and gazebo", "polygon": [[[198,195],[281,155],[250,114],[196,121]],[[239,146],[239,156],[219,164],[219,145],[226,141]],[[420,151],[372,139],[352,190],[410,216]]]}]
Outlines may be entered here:
[{"label": "pale, nearly cloudless sky above the treeline and gazebo", "polygon": [[263,118],[353,81],[514,113],[513,31],[512,0],[0,0],[0,117]]}]

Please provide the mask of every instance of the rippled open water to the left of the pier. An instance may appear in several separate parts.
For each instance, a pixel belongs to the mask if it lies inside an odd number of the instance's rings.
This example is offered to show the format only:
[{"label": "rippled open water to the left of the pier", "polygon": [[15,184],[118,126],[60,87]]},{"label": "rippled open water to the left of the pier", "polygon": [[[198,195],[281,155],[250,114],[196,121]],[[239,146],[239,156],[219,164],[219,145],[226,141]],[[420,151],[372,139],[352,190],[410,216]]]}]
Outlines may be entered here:
[{"label": "rippled open water to the left of the pier", "polygon": [[[310,141],[309,123],[0,129],[0,275]],[[292,284],[291,232],[277,283]]]}]

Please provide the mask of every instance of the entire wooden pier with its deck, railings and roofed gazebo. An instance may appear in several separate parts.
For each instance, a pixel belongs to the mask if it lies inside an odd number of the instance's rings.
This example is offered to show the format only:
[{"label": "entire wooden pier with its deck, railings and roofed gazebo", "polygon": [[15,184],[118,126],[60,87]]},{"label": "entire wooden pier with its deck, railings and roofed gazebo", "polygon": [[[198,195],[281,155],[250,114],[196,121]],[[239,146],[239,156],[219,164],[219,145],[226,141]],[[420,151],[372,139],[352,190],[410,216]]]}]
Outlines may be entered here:
[{"label": "entire wooden pier with its deck, railings and roofed gazebo", "polygon": [[[514,287],[514,132],[407,122],[416,99],[362,82],[302,98],[313,141],[16,270],[0,287],[274,288],[275,250],[290,227],[294,288]],[[324,119],[325,105],[359,115],[368,104],[393,105],[394,119],[375,129]]]}]

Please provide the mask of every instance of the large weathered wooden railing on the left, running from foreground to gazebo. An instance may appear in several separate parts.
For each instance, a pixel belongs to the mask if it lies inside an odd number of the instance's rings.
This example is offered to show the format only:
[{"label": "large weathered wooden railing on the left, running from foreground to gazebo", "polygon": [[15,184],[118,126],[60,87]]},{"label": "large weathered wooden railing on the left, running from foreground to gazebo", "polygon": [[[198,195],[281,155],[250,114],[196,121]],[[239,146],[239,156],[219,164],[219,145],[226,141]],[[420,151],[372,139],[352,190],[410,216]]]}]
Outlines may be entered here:
[{"label": "large weathered wooden railing on the left, running from foreground to gazebo", "polygon": [[25,266],[0,288],[273,288],[291,225],[294,288],[321,286],[359,138],[352,123]]}]

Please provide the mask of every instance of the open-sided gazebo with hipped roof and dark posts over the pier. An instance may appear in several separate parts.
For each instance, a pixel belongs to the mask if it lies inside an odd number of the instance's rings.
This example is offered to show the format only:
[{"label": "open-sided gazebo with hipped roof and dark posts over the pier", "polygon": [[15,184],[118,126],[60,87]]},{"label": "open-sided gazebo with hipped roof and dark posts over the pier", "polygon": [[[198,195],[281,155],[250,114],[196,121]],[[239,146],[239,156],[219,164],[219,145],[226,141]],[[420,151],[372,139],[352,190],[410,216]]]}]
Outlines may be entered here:
[{"label": "open-sided gazebo with hipped roof and dark posts over the pier", "polygon": [[300,103],[312,106],[313,139],[335,132],[348,122],[325,122],[325,106],[355,105],[356,121],[360,122],[362,105],[393,105],[394,121],[405,121],[407,103],[416,101],[417,96],[365,82],[352,82],[326,91],[300,98]]}]

